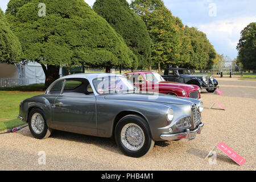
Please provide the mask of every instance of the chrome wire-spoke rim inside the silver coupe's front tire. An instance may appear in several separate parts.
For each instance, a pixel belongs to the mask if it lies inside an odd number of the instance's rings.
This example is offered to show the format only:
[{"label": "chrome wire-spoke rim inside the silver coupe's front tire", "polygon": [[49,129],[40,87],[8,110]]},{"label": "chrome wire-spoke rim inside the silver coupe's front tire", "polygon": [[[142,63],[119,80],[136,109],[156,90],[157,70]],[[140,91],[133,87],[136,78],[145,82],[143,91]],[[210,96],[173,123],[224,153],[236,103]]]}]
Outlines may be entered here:
[{"label": "chrome wire-spoke rim inside the silver coupe's front tire", "polygon": [[137,151],[143,146],[145,137],[141,127],[134,123],[129,123],[121,131],[121,140],[126,148]]}]

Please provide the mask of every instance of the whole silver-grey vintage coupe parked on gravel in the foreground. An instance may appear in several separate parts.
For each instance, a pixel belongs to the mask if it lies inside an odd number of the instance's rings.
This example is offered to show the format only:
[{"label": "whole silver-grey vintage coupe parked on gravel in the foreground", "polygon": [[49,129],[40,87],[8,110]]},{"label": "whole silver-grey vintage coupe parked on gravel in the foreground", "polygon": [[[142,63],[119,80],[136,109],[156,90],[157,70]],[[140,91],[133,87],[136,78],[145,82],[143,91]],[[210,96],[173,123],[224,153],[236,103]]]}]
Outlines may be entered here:
[{"label": "whole silver-grey vintage coupe parked on gravel in the foreground", "polygon": [[53,129],[114,137],[125,155],[138,158],[155,141],[194,139],[204,126],[202,111],[201,101],[142,93],[121,75],[82,73],[61,77],[22,101],[18,118],[37,139]]}]

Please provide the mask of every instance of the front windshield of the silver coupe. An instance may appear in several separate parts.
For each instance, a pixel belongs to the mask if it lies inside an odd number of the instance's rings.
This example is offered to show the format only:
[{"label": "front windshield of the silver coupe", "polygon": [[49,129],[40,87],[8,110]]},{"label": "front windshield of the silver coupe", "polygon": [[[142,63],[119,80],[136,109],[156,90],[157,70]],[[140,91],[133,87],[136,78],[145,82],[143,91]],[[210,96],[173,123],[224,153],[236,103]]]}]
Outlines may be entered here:
[{"label": "front windshield of the silver coupe", "polygon": [[121,76],[99,77],[93,80],[93,85],[98,94],[127,93],[137,90],[134,85]]}]

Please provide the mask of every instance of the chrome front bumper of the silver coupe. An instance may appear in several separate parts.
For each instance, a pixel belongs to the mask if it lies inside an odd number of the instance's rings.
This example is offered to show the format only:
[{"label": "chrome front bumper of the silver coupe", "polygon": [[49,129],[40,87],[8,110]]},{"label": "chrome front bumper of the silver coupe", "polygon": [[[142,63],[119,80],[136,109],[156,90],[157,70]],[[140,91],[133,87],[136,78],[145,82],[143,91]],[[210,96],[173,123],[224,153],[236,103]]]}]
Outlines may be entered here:
[{"label": "chrome front bumper of the silver coupe", "polygon": [[163,140],[178,140],[178,139],[193,139],[196,137],[197,134],[200,134],[203,129],[204,123],[200,123],[199,126],[195,130],[187,129],[186,132],[183,133],[175,133],[175,134],[162,134],[160,138]]}]

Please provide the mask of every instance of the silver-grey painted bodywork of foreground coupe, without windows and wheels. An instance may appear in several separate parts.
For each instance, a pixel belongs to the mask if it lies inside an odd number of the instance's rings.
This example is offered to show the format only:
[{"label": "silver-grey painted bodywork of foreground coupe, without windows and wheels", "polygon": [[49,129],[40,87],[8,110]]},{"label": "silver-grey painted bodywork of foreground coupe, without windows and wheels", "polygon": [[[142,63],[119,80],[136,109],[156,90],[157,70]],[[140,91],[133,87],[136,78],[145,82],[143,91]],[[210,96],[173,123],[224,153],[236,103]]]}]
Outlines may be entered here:
[{"label": "silver-grey painted bodywork of foreground coupe, without windows and wheels", "polygon": [[[93,80],[98,77],[119,76],[104,74],[77,74],[61,77],[53,82],[44,94],[28,98],[20,103],[19,117],[24,122],[33,107],[39,107],[46,115],[48,127],[56,130],[93,135],[97,137],[112,137],[116,123],[124,115],[137,114],[144,118],[154,140],[164,140],[163,136],[185,133],[187,129],[178,129],[176,122],[181,118],[192,116],[192,105],[199,108],[201,101],[192,98],[168,96],[156,93],[125,93],[100,95],[93,86]],[[68,78],[85,78],[92,86],[94,95],[74,96],[69,94],[49,94],[49,89],[57,81]],[[57,105],[61,102],[61,106]],[[167,111],[172,108],[174,118],[167,121]],[[191,120],[192,121],[192,120]],[[189,130],[195,130],[192,122]],[[172,132],[170,133],[170,128]]]}]

